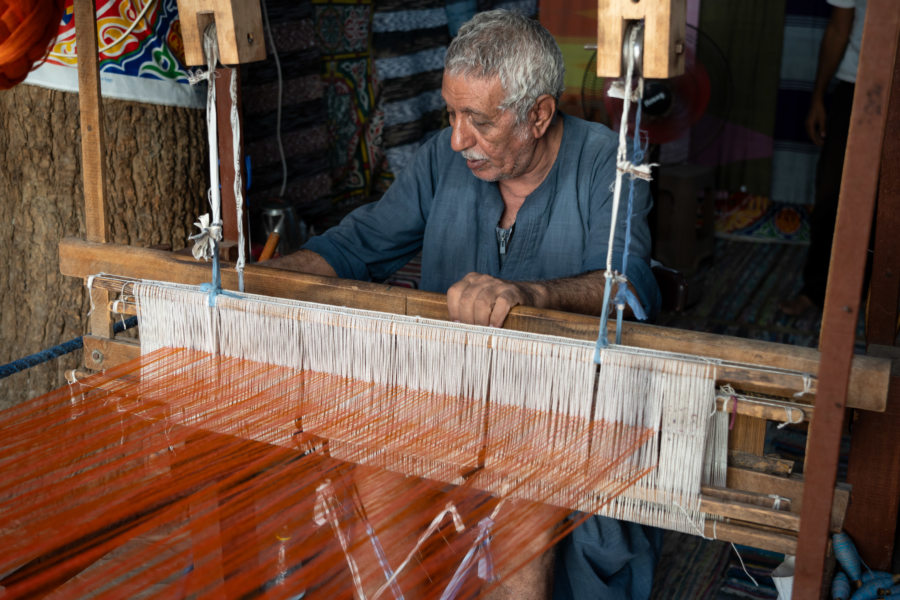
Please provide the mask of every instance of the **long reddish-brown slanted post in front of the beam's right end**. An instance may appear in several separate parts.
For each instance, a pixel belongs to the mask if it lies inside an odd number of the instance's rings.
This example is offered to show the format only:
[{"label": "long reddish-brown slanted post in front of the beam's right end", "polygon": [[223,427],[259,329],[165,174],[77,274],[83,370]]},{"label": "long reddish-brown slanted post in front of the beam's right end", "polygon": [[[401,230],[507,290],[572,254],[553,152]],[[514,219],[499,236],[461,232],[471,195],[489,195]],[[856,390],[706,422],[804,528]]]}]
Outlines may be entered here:
[{"label": "long reddish-brown slanted post in front of the beam's right end", "polygon": [[819,338],[820,389],[804,469],[806,487],[803,526],[797,540],[795,600],[818,600],[825,572],[832,491],[898,32],[900,6],[896,0],[869,0]]}]

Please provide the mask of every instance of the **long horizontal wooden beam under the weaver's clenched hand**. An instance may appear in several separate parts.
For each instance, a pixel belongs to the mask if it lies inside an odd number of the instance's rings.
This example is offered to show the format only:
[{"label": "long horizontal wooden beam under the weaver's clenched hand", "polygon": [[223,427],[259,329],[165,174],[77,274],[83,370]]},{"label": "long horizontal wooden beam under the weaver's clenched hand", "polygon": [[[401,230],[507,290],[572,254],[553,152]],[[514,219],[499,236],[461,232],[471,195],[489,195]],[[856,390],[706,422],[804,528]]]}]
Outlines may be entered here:
[{"label": "long horizontal wooden beam under the weaver's clenched hand", "polygon": [[[186,262],[171,253],[148,248],[132,248],[113,244],[91,244],[67,238],[60,243],[60,271],[64,275],[89,277],[97,273],[114,273],[136,279],[177,281],[197,285],[210,279],[209,265]],[[380,310],[396,314],[419,315],[447,319],[447,301],[443,294],[361,281],[316,277],[272,269],[264,265],[247,265],[244,271],[247,292],[279,298],[306,299],[338,306]],[[222,284],[237,288],[237,274],[223,267]],[[532,307],[515,307],[504,327],[548,335],[565,335],[575,339],[596,339],[600,320]],[[610,325],[614,327],[614,325]],[[629,323],[623,331],[623,342],[630,346],[680,352],[712,359],[734,361],[716,368],[717,379],[740,381],[735,387],[755,388],[759,393],[792,395],[802,385],[797,373],[778,373],[769,368],[814,373],[818,353],[811,348],[797,348],[768,342],[755,342],[728,336],[699,333]],[[749,342],[749,343],[748,343]],[[747,365],[753,369],[748,371]],[[885,359],[854,359],[854,395],[851,405],[866,410],[883,410],[890,379],[890,362]],[[748,389],[748,392],[754,389]]]}]

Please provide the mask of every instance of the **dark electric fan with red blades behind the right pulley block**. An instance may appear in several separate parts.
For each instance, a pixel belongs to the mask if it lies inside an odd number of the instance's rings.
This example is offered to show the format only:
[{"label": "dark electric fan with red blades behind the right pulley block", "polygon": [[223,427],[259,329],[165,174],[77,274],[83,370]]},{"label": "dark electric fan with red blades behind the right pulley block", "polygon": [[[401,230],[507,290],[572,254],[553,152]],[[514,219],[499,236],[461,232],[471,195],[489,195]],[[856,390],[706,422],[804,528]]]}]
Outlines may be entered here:
[{"label": "dark electric fan with red blades behind the right pulley block", "polygon": [[[690,25],[686,29],[684,74],[644,81],[641,132],[650,144],[687,143],[683,160],[691,161],[722,132],[731,102],[731,73],[725,55],[712,39]],[[618,131],[622,100],[608,92],[613,79],[597,77],[597,53],[591,56],[582,81],[585,118],[607,122]],[[634,135],[635,105],[628,118]],[[667,162],[667,161],[664,161]]]}]

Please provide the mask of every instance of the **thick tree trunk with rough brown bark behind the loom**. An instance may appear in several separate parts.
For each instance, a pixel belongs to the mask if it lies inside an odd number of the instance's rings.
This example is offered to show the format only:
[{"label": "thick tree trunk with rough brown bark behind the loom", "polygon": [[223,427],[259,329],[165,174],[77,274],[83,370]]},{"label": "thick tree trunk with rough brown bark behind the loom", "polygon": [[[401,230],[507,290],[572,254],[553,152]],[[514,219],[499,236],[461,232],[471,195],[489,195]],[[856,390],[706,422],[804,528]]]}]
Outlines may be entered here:
[{"label": "thick tree trunk with rough brown bark behind the loom", "polygon": [[[185,245],[206,195],[202,111],[105,100],[111,241]],[[84,237],[78,95],[0,92],[0,364],[85,333],[81,281],[57,244]],[[59,387],[81,352],[0,379],[0,407]]]}]

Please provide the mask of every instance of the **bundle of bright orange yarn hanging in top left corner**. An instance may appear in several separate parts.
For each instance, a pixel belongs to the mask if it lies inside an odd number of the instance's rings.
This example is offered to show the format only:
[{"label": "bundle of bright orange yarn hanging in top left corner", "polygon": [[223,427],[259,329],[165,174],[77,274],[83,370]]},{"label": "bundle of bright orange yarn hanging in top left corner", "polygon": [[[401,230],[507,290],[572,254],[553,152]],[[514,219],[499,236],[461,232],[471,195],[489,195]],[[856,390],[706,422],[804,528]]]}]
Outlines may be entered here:
[{"label": "bundle of bright orange yarn hanging in top left corner", "polygon": [[21,82],[47,57],[65,0],[0,0],[0,89]]}]

